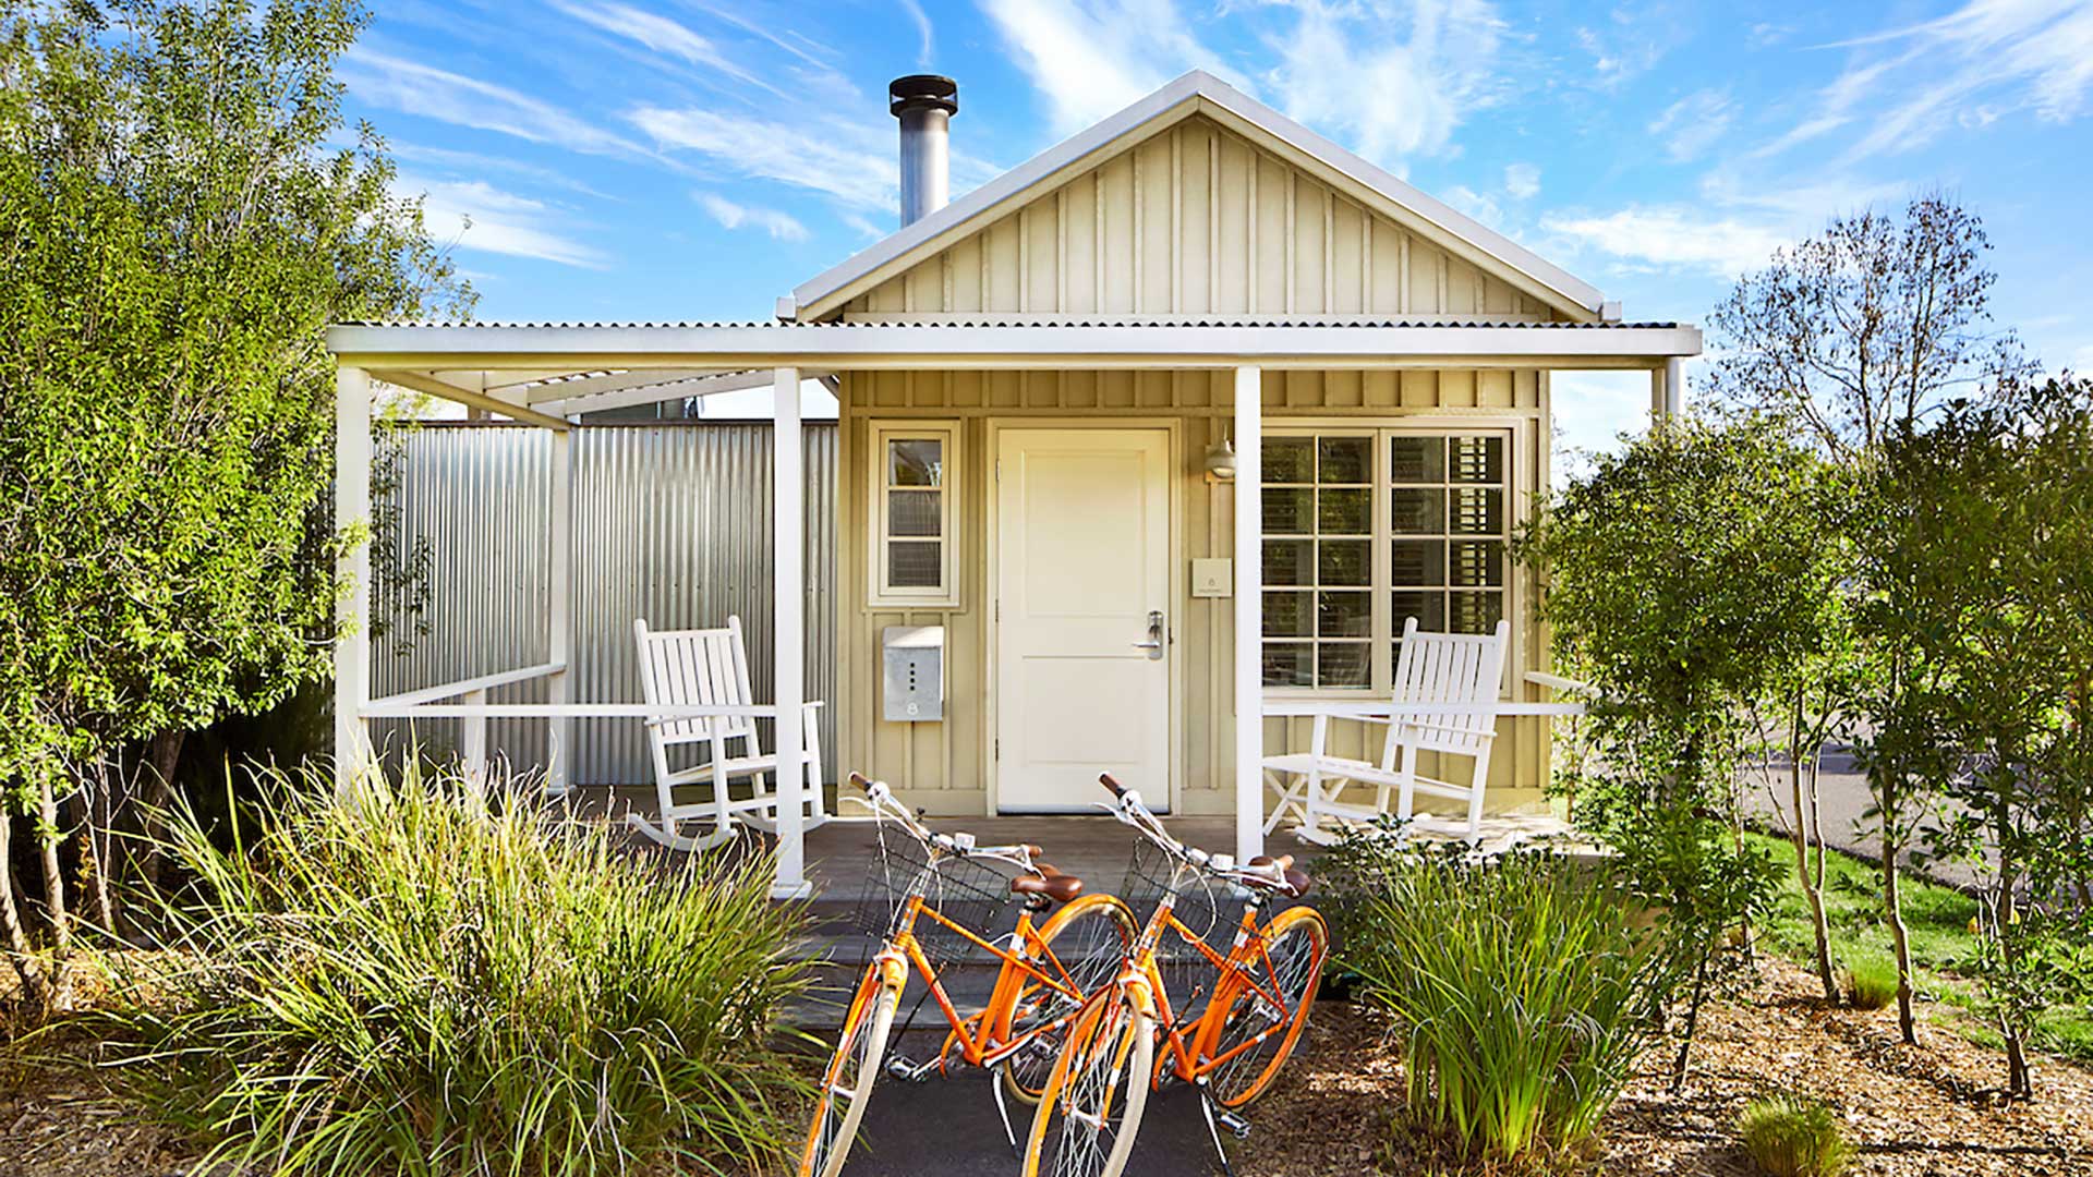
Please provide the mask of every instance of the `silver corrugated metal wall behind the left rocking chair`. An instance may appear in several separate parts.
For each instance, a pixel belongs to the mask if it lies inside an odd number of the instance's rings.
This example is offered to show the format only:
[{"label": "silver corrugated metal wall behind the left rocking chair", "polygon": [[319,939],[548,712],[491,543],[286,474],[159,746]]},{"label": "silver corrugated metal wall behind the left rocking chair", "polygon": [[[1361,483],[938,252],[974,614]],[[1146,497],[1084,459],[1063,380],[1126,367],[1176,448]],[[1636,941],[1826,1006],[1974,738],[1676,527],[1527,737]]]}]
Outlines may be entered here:
[{"label": "silver corrugated metal wall behind the left rocking chair", "polygon": [[[375,695],[546,660],[550,438],[515,425],[427,425],[406,438],[400,545],[429,538],[429,632],[381,639]],[[653,628],[747,630],[770,699],[770,425],[603,425],[573,431],[573,697],[640,702],[632,618]],[[835,425],[806,425],[806,685],[835,779]],[[544,702],[544,681],[494,702]],[[373,737],[454,748],[456,720],[385,720]],[[768,746],[768,731],[764,733]],[[494,720],[488,752],[544,762],[544,723]],[[640,723],[576,723],[573,779],[651,783]]]}]

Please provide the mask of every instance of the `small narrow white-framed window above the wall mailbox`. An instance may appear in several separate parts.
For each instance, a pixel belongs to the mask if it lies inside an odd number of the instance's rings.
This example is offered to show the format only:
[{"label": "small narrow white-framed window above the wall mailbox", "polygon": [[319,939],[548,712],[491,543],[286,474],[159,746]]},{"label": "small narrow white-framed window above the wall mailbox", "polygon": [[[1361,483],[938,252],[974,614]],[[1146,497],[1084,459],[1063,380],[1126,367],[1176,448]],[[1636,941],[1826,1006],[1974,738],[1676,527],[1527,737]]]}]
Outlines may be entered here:
[{"label": "small narrow white-framed window above the wall mailbox", "polygon": [[871,442],[873,605],[957,605],[957,425],[873,425]]}]

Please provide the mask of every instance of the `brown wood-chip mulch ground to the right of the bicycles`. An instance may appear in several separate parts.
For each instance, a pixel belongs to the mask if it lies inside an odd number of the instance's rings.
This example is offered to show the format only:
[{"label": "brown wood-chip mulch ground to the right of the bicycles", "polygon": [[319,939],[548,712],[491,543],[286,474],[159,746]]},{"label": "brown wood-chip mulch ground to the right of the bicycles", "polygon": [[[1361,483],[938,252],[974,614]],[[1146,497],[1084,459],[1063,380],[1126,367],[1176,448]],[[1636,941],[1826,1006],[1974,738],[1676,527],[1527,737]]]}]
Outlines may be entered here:
[{"label": "brown wood-chip mulch ground to the right of the bicycles", "polygon": [[[1605,1118],[1593,1156],[1551,1167],[1607,1177],[1752,1177],[1737,1146],[1746,1102],[1794,1091],[1838,1112],[1856,1146],[1848,1173],[1871,1177],[2085,1177],[2093,1173],[2093,1072],[2034,1060],[2034,1104],[2003,1104],[2003,1056],[1938,1026],[1919,1045],[1896,1037],[1896,1012],[1827,1012],[1817,980],[1764,961],[1752,993],[1702,1016],[1693,1074],[1670,1093],[1668,1058],[1649,1058]],[[1321,1003],[1302,1051],[1254,1110],[1235,1171],[1337,1177],[1453,1169],[1394,1116],[1402,1066],[1383,1018]]]}]

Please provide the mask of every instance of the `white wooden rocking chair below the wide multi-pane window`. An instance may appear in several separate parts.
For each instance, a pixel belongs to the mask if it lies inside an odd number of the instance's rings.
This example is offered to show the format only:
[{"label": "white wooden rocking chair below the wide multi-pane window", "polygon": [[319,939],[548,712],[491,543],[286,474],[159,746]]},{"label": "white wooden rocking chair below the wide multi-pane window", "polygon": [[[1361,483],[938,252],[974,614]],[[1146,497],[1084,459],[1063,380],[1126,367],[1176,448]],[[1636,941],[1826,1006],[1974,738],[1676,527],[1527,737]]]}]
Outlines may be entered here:
[{"label": "white wooden rocking chair below the wide multi-pane window", "polygon": [[[1430,794],[1467,804],[1467,840],[1482,838],[1482,790],[1490,779],[1490,743],[1496,739],[1496,691],[1505,672],[1505,647],[1511,622],[1496,622],[1496,632],[1453,635],[1419,632],[1417,618],[1402,624],[1402,653],[1396,658],[1396,689],[1388,716],[1358,716],[1360,723],[1388,725],[1381,762],[1348,760],[1329,754],[1331,714],[1316,712],[1308,752],[1264,758],[1264,783],[1279,792],[1279,804],[1264,823],[1270,834],[1289,813],[1300,819],[1300,838],[1331,842],[1323,819],[1373,821],[1390,813],[1388,794],[1396,792],[1394,815],[1411,817],[1415,794]],[[1430,712],[1404,714],[1404,704],[1432,704]],[[1440,781],[1417,773],[1417,754],[1438,752],[1471,762],[1467,783]],[[1346,785],[1375,790],[1373,804],[1340,802]]]}]

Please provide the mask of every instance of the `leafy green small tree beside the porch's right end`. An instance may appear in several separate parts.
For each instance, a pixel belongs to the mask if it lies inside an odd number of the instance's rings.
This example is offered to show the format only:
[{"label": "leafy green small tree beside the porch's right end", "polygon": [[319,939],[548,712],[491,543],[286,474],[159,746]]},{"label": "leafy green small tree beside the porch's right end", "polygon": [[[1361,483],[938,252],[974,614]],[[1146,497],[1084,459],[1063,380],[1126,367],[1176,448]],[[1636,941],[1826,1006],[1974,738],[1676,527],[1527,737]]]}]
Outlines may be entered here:
[{"label": "leafy green small tree beside the porch's right end", "polygon": [[1517,540],[1557,660],[1603,693],[1578,823],[1664,911],[1689,978],[1674,1081],[1733,928],[1773,865],[1733,836],[1746,714],[1823,649],[1833,471],[1760,419],[1666,421],[1549,503]]}]

